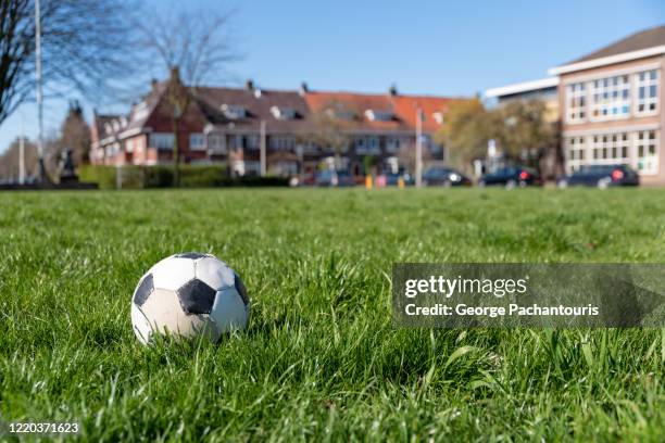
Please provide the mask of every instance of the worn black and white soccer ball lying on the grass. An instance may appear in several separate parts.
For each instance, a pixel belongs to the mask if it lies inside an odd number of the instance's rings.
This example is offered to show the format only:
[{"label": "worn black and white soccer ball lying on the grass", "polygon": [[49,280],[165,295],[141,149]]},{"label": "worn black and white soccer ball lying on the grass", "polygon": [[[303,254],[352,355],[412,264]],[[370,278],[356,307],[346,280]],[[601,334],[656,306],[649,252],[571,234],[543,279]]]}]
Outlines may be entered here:
[{"label": "worn black and white soccer ball lying on the grass", "polygon": [[250,301],[238,275],[211,254],[175,254],[141,277],[131,298],[134,333],[143,344],[153,334],[216,342],[247,326]]}]

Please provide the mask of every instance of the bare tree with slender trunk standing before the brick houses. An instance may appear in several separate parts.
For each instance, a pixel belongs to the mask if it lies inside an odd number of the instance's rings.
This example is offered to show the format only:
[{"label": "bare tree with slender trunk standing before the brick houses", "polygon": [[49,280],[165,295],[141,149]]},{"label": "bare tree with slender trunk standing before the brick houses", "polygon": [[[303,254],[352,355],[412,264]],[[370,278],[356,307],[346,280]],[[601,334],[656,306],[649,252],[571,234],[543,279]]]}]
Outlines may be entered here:
[{"label": "bare tree with slender trunk standing before the brick houses", "polygon": [[171,73],[166,100],[173,110],[174,183],[179,185],[180,118],[204,81],[219,80],[239,59],[230,38],[233,12],[151,11],[152,20],[137,22],[140,43],[152,60]]}]

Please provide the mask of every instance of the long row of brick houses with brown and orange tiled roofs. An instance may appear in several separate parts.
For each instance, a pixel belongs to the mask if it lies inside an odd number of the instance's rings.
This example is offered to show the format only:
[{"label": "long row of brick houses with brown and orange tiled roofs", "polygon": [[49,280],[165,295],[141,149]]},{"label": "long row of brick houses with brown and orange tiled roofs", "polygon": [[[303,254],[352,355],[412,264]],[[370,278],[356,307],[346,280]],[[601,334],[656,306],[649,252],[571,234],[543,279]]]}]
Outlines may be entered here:
[{"label": "long row of brick houses with brown and orange tiled roofs", "polygon": [[[98,165],[155,165],[172,162],[173,106],[170,81],[151,91],[128,115],[95,113],[90,161]],[[397,168],[401,154],[413,155],[421,112],[426,157],[444,160],[434,141],[451,99],[385,94],[244,88],[188,88],[190,105],[181,113],[179,149],[184,163],[227,162],[239,175],[260,174],[261,152],[271,174],[314,170],[335,159],[338,167],[362,174],[366,157],[380,169]]]}]

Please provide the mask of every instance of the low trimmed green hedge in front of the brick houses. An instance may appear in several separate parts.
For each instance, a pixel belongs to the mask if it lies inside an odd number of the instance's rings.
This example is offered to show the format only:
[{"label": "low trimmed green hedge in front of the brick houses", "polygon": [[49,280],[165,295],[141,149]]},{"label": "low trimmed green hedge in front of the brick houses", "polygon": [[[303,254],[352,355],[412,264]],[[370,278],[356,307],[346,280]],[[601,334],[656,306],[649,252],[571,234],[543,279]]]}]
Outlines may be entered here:
[{"label": "low trimmed green hedge in front of the brick houses", "polygon": [[[149,189],[173,187],[173,166],[93,166],[79,168],[81,181],[98,183],[100,189],[116,189],[117,175],[123,189]],[[181,165],[180,188],[288,186],[283,177],[230,177],[226,165]]]}]

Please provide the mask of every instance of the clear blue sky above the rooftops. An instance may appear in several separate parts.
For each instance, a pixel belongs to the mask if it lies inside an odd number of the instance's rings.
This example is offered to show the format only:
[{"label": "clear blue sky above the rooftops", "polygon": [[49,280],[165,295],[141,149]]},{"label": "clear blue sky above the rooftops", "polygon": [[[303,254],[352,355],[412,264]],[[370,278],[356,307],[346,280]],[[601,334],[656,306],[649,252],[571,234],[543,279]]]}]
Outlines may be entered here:
[{"label": "clear blue sky above the rooftops", "polygon": [[[382,92],[394,83],[405,93],[469,96],[544,77],[549,67],[665,24],[663,0],[189,3],[236,9],[235,39],[244,58],[231,66],[229,83],[251,77],[280,89],[305,80],[312,89]],[[47,132],[58,129],[65,110],[66,102],[47,103]],[[36,106],[20,112],[35,137]],[[18,113],[0,126],[0,151],[20,127]]]}]

